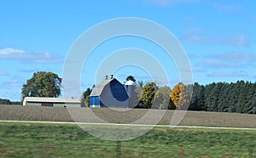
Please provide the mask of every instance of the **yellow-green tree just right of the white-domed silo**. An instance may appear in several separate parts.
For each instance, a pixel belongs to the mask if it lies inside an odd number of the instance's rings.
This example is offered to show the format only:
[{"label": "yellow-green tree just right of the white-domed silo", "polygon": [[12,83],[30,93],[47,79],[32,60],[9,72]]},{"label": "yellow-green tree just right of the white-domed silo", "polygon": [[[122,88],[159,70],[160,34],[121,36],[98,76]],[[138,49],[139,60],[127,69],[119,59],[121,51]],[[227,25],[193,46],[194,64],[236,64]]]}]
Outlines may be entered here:
[{"label": "yellow-green tree just right of the white-domed silo", "polygon": [[142,100],[143,104],[146,104],[148,108],[151,108],[151,105],[154,103],[154,93],[157,88],[158,87],[156,86],[155,82],[147,83],[143,87]]}]

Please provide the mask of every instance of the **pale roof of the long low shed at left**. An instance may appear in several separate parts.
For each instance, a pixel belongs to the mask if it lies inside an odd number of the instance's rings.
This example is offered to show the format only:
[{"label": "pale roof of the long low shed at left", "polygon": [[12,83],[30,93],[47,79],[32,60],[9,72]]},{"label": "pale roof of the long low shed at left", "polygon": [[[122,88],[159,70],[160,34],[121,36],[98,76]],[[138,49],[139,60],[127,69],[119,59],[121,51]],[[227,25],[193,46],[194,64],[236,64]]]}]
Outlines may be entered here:
[{"label": "pale roof of the long low shed at left", "polygon": [[62,99],[62,98],[46,98],[46,97],[25,97],[23,102],[36,102],[36,103],[67,103],[67,104],[80,104],[79,99]]}]

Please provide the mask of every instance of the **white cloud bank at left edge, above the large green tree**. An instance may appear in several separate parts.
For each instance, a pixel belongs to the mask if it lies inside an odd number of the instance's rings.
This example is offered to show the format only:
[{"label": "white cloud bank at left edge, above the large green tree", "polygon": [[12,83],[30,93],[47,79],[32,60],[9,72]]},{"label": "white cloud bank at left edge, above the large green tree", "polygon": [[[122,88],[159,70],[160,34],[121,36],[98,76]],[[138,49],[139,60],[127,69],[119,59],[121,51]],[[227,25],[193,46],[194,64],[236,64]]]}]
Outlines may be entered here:
[{"label": "white cloud bank at left edge, above the large green tree", "polygon": [[62,58],[57,54],[26,52],[15,48],[0,48],[0,59],[19,59],[22,62],[34,64],[61,63]]}]

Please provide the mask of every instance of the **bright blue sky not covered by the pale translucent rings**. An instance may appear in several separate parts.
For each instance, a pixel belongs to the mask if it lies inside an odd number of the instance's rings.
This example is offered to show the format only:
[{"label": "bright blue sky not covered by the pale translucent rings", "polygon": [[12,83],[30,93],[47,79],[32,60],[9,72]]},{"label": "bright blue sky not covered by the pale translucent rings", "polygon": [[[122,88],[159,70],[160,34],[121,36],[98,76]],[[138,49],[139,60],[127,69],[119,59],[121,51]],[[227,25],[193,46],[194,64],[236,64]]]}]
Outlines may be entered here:
[{"label": "bright blue sky not covered by the pale translucent rings", "polygon": [[[189,56],[194,82],[255,82],[255,5],[248,0],[1,0],[0,98],[20,100],[22,85],[36,71],[62,76],[73,42],[93,25],[121,17],[153,20],[171,31]],[[171,87],[179,82],[175,65],[159,48],[143,39],[123,37],[102,43],[90,54],[81,73],[81,89],[94,84],[102,59],[131,47],[159,59],[168,70]],[[134,66],[113,74],[121,82],[130,74],[150,81],[147,71]]]}]

